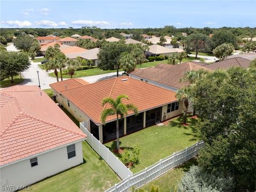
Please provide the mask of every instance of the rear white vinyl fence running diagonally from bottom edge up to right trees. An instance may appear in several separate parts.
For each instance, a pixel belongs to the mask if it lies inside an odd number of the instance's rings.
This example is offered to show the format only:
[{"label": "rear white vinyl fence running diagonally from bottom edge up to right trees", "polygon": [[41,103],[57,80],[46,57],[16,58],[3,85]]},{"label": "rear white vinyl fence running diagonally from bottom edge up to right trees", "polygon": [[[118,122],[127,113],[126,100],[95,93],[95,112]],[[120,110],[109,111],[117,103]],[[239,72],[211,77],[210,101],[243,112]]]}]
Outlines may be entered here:
[{"label": "rear white vinyl fence running diagonally from bottom edge up to right trees", "polygon": [[150,167],[138,173],[130,175],[123,181],[115,186],[109,188],[105,192],[121,192],[130,191],[131,187],[139,188],[146,183],[156,179],[165,172],[173,169],[174,167],[188,161],[190,158],[196,156],[199,149],[204,147],[204,141],[198,141],[193,146],[183,149],[169,157],[161,159],[159,162],[151,165]]}]

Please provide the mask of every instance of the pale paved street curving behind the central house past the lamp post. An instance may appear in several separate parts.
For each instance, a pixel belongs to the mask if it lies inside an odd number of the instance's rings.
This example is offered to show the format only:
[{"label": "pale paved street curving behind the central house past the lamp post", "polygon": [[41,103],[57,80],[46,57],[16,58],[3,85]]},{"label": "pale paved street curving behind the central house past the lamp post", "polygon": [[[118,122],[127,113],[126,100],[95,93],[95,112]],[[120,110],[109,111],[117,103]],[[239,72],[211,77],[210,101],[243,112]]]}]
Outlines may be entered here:
[{"label": "pale paved street curving behind the central house past the lamp post", "polygon": [[[37,85],[38,86],[39,84],[38,84],[38,77],[36,72],[38,70],[41,89],[50,89],[51,87],[49,86],[49,84],[57,82],[57,79],[55,77],[49,76],[43,69],[37,66],[38,64],[40,64],[40,62],[31,61],[30,68],[27,71],[22,73],[22,76],[25,78],[25,80],[20,85]],[[122,73],[123,71],[119,72],[119,75],[122,75]],[[95,83],[97,81],[101,81],[101,80],[108,79],[115,76],[116,76],[116,72],[101,74],[101,75],[94,75],[89,77],[79,77],[79,78],[84,79],[89,83]]]}]

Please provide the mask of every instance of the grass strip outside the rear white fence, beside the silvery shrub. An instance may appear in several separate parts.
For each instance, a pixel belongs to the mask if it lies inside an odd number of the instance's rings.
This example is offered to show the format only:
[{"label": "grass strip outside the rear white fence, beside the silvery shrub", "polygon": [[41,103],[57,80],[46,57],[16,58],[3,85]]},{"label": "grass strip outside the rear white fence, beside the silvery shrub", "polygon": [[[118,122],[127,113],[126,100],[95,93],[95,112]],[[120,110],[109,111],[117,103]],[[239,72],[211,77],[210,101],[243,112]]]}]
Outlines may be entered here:
[{"label": "grass strip outside the rear white fence, beside the silvery shrub", "polygon": [[147,185],[141,187],[145,190],[150,190],[152,185],[158,186],[160,191],[175,191],[179,186],[179,182],[181,181],[185,172],[189,170],[189,167],[192,165],[197,165],[196,159],[192,158],[188,162],[180,165],[179,167],[170,170],[157,179],[150,181]]}]

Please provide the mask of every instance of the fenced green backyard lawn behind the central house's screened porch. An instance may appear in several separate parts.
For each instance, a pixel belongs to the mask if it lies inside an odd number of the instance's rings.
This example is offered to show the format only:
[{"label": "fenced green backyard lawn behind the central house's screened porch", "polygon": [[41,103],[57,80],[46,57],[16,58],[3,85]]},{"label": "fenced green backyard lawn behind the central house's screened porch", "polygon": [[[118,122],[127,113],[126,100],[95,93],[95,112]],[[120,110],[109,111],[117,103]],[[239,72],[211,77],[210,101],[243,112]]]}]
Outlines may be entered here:
[{"label": "fenced green backyard lawn behind the central house's screened porch", "polygon": [[[189,126],[183,126],[181,125],[182,119],[182,116],[177,117],[167,125],[154,125],[120,139],[121,148],[125,149],[134,145],[140,147],[140,163],[131,169],[133,173],[198,141],[198,133],[195,128],[197,120],[188,118]],[[116,142],[108,142],[105,146],[113,151],[116,148]],[[117,156],[122,157],[122,154],[117,154]]]}]

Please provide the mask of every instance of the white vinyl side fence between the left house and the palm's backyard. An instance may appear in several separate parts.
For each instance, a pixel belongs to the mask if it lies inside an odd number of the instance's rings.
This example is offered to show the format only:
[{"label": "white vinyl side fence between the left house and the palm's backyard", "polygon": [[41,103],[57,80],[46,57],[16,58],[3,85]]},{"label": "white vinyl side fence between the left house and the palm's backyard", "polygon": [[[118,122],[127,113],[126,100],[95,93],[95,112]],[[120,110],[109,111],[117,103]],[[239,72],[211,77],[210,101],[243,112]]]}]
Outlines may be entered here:
[{"label": "white vinyl side fence between the left house and the palm's backyard", "polygon": [[89,145],[104,159],[121,179],[125,179],[129,177],[129,175],[132,175],[132,172],[118,159],[118,157],[111,153],[107,147],[102,145],[102,143],[86,129],[87,125],[88,122],[80,123],[80,129],[87,135],[87,143],[89,143]]}]

